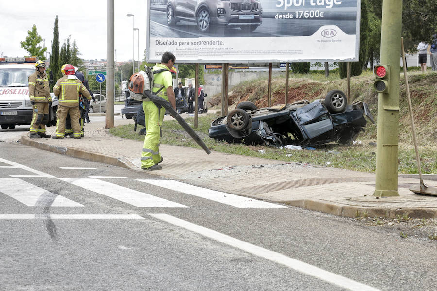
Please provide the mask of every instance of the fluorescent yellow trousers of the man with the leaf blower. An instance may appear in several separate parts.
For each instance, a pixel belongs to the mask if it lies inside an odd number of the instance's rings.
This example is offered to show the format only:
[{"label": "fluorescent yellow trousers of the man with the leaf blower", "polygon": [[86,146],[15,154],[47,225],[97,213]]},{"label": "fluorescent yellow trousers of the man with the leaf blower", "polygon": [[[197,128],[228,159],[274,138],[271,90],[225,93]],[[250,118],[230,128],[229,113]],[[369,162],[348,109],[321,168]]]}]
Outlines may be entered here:
[{"label": "fluorescent yellow trousers of the man with the leaf blower", "polygon": [[152,101],[144,101],[143,110],[146,136],[144,137],[143,151],[141,152],[141,167],[150,168],[161,160],[159,141],[161,138],[161,124],[166,109],[164,107],[158,109]]}]

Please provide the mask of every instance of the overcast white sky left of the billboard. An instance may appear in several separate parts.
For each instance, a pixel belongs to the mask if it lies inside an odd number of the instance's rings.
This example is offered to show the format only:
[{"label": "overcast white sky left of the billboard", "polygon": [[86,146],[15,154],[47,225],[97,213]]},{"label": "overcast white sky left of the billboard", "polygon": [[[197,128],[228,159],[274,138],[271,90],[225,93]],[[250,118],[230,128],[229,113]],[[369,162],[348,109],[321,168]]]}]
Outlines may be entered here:
[{"label": "overcast white sky left of the billboard", "polygon": [[[126,14],[134,15],[127,17]],[[0,0],[0,56],[23,57],[21,48],[28,30],[35,24],[51,53],[53,27],[58,15],[59,47],[68,35],[76,44],[83,59],[106,59],[106,0]],[[133,25],[139,28],[140,58],[146,48],[146,0],[114,0],[114,49],[116,60],[133,57]],[[42,43],[41,43],[42,46]],[[138,60],[138,32],[135,31],[135,60]]]}]

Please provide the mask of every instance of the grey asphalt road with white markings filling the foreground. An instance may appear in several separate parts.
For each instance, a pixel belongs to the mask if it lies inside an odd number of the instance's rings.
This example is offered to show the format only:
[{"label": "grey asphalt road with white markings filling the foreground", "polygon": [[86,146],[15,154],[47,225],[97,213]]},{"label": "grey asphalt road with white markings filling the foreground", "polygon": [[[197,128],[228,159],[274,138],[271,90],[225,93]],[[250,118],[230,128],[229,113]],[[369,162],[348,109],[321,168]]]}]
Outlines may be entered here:
[{"label": "grey asphalt road with white markings filling the foreground", "polygon": [[435,244],[351,219],[17,143],[0,167],[1,290],[436,286]]}]

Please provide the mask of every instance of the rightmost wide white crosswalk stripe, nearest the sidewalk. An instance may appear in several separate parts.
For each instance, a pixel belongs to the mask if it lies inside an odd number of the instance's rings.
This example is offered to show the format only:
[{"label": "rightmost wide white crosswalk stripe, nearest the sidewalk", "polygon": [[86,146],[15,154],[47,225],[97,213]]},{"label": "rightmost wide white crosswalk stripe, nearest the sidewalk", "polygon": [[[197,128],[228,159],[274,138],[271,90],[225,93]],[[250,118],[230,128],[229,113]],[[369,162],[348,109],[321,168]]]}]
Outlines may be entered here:
[{"label": "rightmost wide white crosswalk stripe, nearest the sidewalk", "polygon": [[138,181],[171,189],[174,191],[182,192],[185,194],[209,199],[219,203],[235,206],[238,208],[287,208],[286,206],[279,205],[279,204],[264,202],[252,198],[210,190],[210,189],[193,186],[173,180],[138,179]]}]

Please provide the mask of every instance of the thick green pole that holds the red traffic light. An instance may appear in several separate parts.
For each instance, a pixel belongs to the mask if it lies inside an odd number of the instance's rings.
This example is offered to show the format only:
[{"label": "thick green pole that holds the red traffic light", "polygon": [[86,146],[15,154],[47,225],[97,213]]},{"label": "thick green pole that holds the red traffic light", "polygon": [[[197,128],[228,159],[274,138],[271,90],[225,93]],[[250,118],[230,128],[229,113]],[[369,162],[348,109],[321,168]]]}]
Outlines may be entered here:
[{"label": "thick green pole that holds the red traffic light", "polygon": [[402,1],[383,0],[381,64],[388,65],[389,93],[378,94],[376,187],[374,196],[399,196],[399,72]]}]

